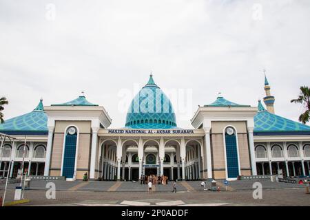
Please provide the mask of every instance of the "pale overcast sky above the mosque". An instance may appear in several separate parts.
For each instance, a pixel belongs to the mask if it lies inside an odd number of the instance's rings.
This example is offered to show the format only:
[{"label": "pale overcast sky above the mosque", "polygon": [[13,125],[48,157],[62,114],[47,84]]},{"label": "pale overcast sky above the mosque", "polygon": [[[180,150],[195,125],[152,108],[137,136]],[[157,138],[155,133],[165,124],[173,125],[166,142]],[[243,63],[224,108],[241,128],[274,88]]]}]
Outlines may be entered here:
[{"label": "pale overcast sky above the mosque", "polygon": [[276,114],[310,83],[309,0],[0,0],[0,96],[5,120],[84,91],[125,124],[134,95],[153,74],[179,127],[218,93],[257,106],[263,69]]}]

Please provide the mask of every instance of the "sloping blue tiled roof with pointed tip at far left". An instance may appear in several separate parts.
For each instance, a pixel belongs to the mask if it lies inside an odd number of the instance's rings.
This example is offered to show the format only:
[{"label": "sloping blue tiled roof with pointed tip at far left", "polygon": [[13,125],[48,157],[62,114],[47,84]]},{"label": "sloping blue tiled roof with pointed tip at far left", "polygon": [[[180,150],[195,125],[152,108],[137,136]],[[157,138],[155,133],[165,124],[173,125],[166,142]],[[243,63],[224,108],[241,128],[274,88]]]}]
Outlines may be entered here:
[{"label": "sloping blue tiled roof with pointed tip at far left", "polygon": [[38,106],[24,115],[6,120],[0,124],[0,132],[10,134],[45,134],[48,131],[48,116],[40,100]]}]

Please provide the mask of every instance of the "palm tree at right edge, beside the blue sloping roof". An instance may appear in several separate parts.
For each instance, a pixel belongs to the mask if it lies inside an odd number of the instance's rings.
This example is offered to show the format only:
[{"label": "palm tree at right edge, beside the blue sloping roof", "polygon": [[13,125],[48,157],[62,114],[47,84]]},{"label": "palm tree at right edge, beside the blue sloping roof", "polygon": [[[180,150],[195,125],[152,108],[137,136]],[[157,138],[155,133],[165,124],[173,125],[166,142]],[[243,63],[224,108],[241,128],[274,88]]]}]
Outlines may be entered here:
[{"label": "palm tree at right edge, beside the blue sloping roof", "polygon": [[300,87],[300,95],[298,96],[298,98],[291,100],[291,102],[300,103],[303,105],[304,113],[302,113],[298,119],[303,124],[306,124],[307,122],[309,122],[309,118],[310,118],[310,98],[309,98],[309,96],[310,96],[309,87],[303,86],[303,87]]}]

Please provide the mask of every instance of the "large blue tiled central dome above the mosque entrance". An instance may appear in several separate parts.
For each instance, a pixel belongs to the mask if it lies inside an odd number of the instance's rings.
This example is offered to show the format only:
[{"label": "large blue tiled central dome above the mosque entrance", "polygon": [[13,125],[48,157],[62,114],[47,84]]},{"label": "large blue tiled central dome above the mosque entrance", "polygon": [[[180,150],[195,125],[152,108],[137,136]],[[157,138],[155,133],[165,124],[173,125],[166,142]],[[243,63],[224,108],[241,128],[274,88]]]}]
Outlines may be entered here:
[{"label": "large blue tiled central dome above the mosque entrance", "polygon": [[127,112],[125,126],[131,129],[173,129],[176,115],[169,98],[153,80],[134,97]]}]

